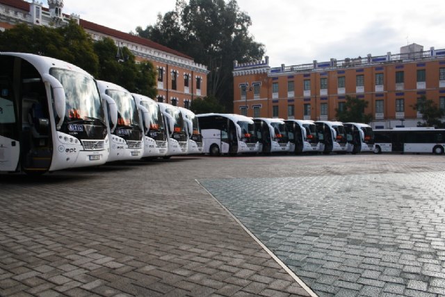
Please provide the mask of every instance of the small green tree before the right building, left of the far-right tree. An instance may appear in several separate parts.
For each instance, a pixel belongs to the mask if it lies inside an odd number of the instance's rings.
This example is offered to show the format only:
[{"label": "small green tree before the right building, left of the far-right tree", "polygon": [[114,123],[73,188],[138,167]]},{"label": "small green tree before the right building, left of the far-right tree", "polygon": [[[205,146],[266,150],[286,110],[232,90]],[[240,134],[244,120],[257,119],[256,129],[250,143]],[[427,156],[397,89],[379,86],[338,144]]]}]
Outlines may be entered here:
[{"label": "small green tree before the right building, left of the far-right tree", "polygon": [[365,114],[364,110],[368,107],[368,101],[364,99],[358,99],[357,97],[346,96],[346,103],[343,110],[335,109],[337,112],[336,117],[343,123],[355,122],[355,123],[369,123],[372,121],[372,114]]}]

